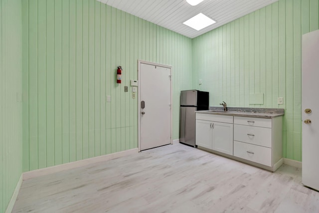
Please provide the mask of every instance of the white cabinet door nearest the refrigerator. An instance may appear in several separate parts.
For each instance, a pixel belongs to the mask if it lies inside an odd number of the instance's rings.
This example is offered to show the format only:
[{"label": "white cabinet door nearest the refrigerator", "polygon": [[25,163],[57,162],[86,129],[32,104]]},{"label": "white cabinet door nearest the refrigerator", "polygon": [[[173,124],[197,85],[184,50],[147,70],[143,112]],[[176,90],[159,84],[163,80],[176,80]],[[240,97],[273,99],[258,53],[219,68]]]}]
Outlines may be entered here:
[{"label": "white cabinet door nearest the refrigerator", "polygon": [[196,120],[195,144],[207,149],[212,148],[212,122]]}]

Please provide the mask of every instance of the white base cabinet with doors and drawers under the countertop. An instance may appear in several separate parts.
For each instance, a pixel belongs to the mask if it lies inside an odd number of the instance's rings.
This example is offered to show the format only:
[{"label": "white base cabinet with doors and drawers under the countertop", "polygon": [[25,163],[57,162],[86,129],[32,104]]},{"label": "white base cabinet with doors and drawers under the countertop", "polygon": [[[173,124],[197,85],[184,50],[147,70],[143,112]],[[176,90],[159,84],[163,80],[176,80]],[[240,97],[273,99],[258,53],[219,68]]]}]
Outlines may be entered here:
[{"label": "white base cabinet with doors and drawers under the countertop", "polygon": [[255,118],[197,112],[195,144],[199,148],[276,171],[283,162],[282,116]]}]

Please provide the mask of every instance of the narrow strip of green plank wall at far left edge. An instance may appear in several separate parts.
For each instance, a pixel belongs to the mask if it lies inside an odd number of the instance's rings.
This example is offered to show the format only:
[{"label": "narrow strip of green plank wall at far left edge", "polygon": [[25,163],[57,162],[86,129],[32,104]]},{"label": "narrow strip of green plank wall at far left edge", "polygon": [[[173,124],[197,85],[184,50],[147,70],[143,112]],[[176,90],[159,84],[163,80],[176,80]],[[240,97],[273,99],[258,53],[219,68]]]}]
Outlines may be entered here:
[{"label": "narrow strip of green plank wall at far left edge", "polygon": [[0,0],[0,213],[22,174],[21,0]]}]

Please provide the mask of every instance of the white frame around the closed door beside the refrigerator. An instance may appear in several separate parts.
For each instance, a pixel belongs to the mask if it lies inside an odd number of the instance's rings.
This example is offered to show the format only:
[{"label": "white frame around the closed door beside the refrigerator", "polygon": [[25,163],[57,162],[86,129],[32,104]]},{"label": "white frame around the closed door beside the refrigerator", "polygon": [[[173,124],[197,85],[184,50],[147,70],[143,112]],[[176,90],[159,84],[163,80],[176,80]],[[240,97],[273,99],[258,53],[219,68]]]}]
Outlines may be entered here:
[{"label": "white frame around the closed door beside the refrigerator", "polygon": [[154,66],[160,66],[164,68],[168,68],[170,70],[170,144],[173,144],[172,140],[172,135],[173,135],[173,117],[172,117],[172,112],[173,112],[173,104],[172,104],[172,79],[171,79],[171,72],[172,72],[172,67],[169,65],[164,65],[164,64],[158,64],[158,63],[153,63],[149,61],[144,61],[144,60],[138,60],[138,150],[141,152],[141,63],[143,64],[148,64],[148,65],[154,65]]}]

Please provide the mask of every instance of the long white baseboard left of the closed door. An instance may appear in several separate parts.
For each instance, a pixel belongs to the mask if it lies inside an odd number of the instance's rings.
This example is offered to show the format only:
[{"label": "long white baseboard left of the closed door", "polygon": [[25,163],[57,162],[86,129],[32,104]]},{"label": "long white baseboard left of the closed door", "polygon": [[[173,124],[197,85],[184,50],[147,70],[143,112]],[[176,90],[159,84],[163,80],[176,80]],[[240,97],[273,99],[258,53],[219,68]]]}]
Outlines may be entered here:
[{"label": "long white baseboard left of the closed door", "polygon": [[112,154],[108,154],[108,155],[98,156],[98,157],[94,157],[94,158],[88,158],[88,159],[75,161],[75,162],[71,162],[71,163],[61,164],[61,165],[57,165],[57,166],[53,166],[53,167],[33,170],[30,172],[23,173],[23,180],[27,180],[30,178],[39,177],[39,176],[43,176],[43,175],[49,175],[49,174],[64,171],[64,170],[74,169],[74,168],[86,166],[86,165],[89,165],[92,163],[108,161],[108,160],[112,160],[114,158],[133,155],[136,153],[138,153],[138,148],[130,149],[130,150],[122,151],[122,152],[117,152],[117,153],[112,153]]}]

